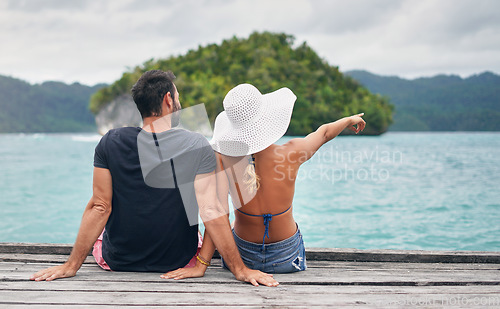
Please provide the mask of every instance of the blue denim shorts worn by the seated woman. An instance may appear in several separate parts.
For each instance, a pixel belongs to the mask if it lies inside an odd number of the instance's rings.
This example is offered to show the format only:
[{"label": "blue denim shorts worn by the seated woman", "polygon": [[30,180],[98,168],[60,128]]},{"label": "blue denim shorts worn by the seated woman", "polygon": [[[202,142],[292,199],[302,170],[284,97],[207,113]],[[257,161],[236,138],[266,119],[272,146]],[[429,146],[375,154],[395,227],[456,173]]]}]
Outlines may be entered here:
[{"label": "blue denim shorts worn by the seated woman", "polygon": [[[240,251],[241,259],[248,268],[266,273],[293,273],[305,270],[306,251],[302,234],[297,232],[285,240],[264,245],[241,239],[233,229],[234,241]],[[222,266],[227,269],[224,259]]]}]

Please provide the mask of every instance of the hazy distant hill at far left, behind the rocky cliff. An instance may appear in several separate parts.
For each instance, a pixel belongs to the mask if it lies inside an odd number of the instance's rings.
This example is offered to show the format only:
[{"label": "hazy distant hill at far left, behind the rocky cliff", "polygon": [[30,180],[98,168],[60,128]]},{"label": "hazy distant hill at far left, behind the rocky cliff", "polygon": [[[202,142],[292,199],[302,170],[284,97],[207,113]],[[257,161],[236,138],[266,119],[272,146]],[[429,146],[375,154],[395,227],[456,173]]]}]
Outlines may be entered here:
[{"label": "hazy distant hill at far left, behind the rocky cliff", "polygon": [[96,131],[88,103],[92,93],[103,86],[31,85],[0,75],[0,133]]}]

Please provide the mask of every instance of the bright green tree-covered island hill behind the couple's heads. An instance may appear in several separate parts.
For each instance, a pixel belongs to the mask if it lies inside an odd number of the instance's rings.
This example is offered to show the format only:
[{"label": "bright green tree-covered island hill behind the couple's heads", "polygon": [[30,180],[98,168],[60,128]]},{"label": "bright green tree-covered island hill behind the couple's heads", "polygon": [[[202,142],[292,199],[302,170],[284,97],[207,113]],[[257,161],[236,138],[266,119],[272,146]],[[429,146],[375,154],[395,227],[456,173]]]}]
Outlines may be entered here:
[{"label": "bright green tree-covered island hill behind the couple's heads", "polygon": [[363,134],[381,134],[392,122],[392,105],[386,98],[344,76],[305,42],[295,45],[293,36],[270,32],[254,32],[247,38],[233,37],[184,55],[147,61],[96,92],[91,110],[97,114],[130,93],[142,73],[152,69],[172,70],[183,106],[205,103],[212,123],[222,111],[226,93],[241,83],[251,83],[262,93],[288,87],[297,95],[287,135],[305,135],[323,123],[359,112],[366,114]]}]

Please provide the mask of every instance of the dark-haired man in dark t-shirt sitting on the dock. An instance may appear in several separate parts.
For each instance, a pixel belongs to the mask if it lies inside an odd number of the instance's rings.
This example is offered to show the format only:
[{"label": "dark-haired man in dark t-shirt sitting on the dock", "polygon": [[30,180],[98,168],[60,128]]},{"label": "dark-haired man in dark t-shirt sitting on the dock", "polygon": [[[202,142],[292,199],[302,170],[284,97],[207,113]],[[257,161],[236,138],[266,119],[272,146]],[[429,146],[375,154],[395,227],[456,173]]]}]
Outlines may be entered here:
[{"label": "dark-haired man in dark t-shirt sitting on the dock", "polygon": [[[101,139],[94,157],[93,196],[71,255],[63,265],[41,270],[31,280],[75,276],[104,228],[102,258],[111,270],[165,272],[186,265],[196,253],[198,226],[189,223],[178,180],[189,180],[186,175],[190,174],[205,228],[236,279],[255,286],[278,285],[272,276],[247,268],[241,260],[228,217],[217,199],[216,161],[208,141],[200,134],[172,128],[175,112],[181,109],[174,79],[172,72],[153,70],[134,85],[132,95],[143,128],[110,130]],[[151,136],[153,145],[159,147],[161,141],[169,146],[171,158],[164,162],[170,163],[167,174],[172,174],[174,183],[170,188],[146,183],[148,175],[143,174],[139,158],[140,134]],[[157,154],[162,157],[160,148]],[[186,156],[190,165],[177,164],[175,158]]]}]

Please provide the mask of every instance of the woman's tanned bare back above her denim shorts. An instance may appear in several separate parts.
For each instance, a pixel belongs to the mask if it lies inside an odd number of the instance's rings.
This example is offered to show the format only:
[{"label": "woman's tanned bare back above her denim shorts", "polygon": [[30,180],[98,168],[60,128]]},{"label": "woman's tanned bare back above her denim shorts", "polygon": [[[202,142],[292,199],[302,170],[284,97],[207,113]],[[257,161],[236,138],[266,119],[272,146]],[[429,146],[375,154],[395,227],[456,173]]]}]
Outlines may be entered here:
[{"label": "woman's tanned bare back above her denim shorts", "polygon": [[[269,238],[266,237],[265,243],[275,243],[287,239],[297,231],[297,225],[293,218],[292,202],[295,192],[295,178],[300,164],[291,162],[294,160],[290,160],[289,146],[287,144],[271,145],[254,154],[255,171],[260,178],[260,186],[253,194],[247,190],[243,182],[245,167],[248,165],[247,159],[222,156],[223,165],[230,180],[229,186],[234,207],[247,214],[273,215],[269,224]],[[233,167],[234,174],[231,169],[227,168],[228,166]],[[235,177],[240,193],[235,185]],[[262,243],[265,232],[264,218],[248,216],[240,211],[235,211],[234,229],[236,234],[247,241]]]}]

